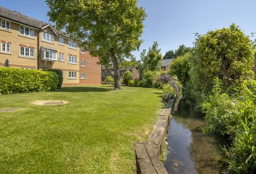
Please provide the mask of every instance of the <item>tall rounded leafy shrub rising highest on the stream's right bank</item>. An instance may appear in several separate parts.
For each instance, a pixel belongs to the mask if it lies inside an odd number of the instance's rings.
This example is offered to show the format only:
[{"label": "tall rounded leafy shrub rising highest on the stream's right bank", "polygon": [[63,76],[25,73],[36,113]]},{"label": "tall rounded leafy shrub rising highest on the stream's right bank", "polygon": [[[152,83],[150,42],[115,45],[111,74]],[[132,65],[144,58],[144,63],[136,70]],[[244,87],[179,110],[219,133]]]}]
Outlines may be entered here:
[{"label": "tall rounded leafy shrub rising highest on the stream's right bank", "polygon": [[232,24],[229,28],[197,35],[192,59],[189,71],[192,93],[199,96],[209,93],[214,78],[222,81],[224,91],[233,93],[235,86],[253,78],[254,43]]}]

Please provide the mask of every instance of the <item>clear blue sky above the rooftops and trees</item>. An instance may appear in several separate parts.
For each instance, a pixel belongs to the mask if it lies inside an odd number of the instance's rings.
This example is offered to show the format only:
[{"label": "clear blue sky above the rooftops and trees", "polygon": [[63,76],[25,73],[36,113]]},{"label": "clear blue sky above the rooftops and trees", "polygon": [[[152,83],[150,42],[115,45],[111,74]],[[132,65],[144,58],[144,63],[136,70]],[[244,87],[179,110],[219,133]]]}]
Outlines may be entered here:
[{"label": "clear blue sky above the rooftops and trees", "polygon": [[[44,0],[0,0],[0,6],[49,22]],[[164,55],[182,44],[193,47],[195,33],[206,34],[232,22],[246,35],[256,32],[255,0],[139,0],[138,6],[144,7],[147,17],[141,37],[144,42],[133,52],[137,60],[155,41]]]}]

